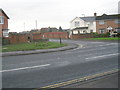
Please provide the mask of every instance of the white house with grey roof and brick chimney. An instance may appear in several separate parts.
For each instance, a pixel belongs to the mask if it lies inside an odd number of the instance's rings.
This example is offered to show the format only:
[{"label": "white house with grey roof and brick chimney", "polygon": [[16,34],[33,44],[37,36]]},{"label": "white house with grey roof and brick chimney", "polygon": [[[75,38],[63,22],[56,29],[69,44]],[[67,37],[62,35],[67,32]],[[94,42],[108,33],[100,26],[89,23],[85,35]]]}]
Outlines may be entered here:
[{"label": "white house with grey roof and brick chimney", "polygon": [[96,13],[94,16],[76,17],[70,22],[70,35],[96,32]]}]

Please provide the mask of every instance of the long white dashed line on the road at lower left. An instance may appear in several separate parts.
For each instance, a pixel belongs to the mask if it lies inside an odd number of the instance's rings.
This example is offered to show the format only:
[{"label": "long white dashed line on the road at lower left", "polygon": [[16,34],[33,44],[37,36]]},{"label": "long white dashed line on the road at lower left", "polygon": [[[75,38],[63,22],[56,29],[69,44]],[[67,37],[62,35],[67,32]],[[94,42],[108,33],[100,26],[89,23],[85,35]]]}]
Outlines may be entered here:
[{"label": "long white dashed line on the road at lower left", "polygon": [[32,66],[32,67],[23,67],[23,68],[16,68],[16,69],[10,69],[10,70],[2,70],[0,72],[11,72],[11,71],[18,71],[18,70],[25,70],[25,69],[33,69],[33,68],[40,68],[40,67],[46,67],[50,64],[44,64],[44,65],[38,65],[38,66]]}]

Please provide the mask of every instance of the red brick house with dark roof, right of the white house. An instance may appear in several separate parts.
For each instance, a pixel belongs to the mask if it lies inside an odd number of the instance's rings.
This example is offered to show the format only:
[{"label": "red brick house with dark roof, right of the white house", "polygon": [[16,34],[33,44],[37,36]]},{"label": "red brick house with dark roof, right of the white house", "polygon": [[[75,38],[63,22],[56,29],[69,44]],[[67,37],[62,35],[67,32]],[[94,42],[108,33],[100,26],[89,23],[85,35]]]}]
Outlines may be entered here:
[{"label": "red brick house with dark roof, right of the white house", "polygon": [[107,15],[103,14],[96,17],[96,31],[99,34],[120,31],[120,14]]}]

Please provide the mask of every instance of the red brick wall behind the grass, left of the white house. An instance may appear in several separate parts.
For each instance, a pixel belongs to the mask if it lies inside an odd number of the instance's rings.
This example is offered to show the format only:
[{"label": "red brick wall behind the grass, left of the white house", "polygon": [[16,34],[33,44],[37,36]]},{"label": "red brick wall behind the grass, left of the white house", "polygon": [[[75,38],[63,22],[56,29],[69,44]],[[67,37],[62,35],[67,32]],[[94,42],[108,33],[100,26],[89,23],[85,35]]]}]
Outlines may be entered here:
[{"label": "red brick wall behind the grass, left of the white house", "polygon": [[44,38],[62,38],[62,39],[68,39],[68,33],[67,32],[47,32],[43,34]]}]

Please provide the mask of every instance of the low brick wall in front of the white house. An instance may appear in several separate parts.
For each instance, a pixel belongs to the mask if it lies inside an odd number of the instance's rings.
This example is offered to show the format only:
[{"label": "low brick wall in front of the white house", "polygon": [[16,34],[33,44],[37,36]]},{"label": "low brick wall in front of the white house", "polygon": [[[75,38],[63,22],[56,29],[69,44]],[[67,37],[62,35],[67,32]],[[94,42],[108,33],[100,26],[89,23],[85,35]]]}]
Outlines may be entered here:
[{"label": "low brick wall in front of the white house", "polygon": [[93,38],[93,34],[73,34],[70,39]]}]

